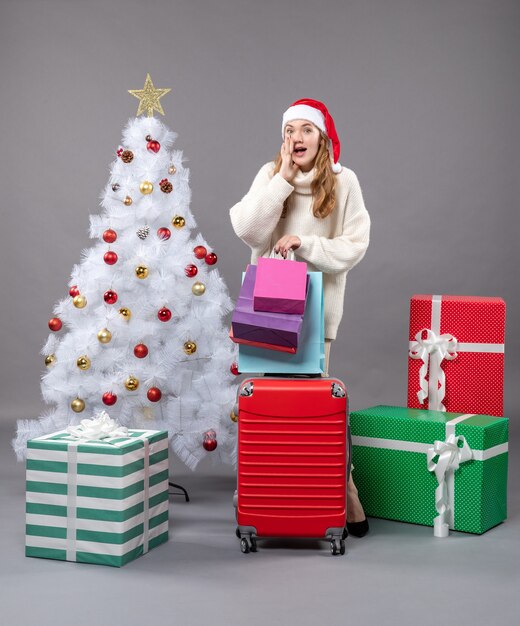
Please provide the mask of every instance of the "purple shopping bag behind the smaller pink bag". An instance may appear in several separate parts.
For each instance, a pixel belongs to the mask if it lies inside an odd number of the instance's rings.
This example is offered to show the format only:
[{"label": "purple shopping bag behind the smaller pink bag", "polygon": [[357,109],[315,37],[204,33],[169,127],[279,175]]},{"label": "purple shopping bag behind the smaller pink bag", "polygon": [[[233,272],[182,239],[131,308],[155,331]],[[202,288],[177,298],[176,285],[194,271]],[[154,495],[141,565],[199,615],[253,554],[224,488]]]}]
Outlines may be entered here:
[{"label": "purple shopping bag behind the smaller pink bag", "polygon": [[276,349],[276,346],[297,349],[303,315],[255,311],[253,308],[253,289],[256,272],[256,265],[247,266],[231,319],[234,340],[246,339],[269,344],[273,346],[273,350]]}]

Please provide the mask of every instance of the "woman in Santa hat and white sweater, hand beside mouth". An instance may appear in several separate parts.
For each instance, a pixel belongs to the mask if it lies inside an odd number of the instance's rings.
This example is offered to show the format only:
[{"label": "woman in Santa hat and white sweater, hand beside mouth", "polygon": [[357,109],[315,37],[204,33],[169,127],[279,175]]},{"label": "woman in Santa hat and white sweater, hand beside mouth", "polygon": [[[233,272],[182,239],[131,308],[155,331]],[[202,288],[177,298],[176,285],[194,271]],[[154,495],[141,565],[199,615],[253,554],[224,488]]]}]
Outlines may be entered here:
[{"label": "woman in Santa hat and white sweater, hand beside mouth", "polygon": [[[251,263],[274,249],[293,250],[310,271],[323,272],[325,360],[343,316],[348,272],[365,255],[370,217],[358,179],[338,162],[340,142],[327,107],[297,100],[282,120],[283,143],[275,162],[265,164],[251,189],[230,210],[235,233],[251,248]],[[368,522],[350,478],[347,529],[362,537]]]}]

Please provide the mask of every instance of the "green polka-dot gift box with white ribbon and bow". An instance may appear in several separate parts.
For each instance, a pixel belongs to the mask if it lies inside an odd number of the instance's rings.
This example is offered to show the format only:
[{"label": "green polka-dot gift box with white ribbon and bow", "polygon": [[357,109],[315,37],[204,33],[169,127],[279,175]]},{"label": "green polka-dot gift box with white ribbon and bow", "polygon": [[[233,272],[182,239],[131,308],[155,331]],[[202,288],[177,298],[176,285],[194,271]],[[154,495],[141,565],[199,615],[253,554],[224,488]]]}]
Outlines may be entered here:
[{"label": "green polka-dot gift box with white ribbon and bow", "polygon": [[504,417],[376,406],[350,415],[367,515],[482,534],[507,517]]}]

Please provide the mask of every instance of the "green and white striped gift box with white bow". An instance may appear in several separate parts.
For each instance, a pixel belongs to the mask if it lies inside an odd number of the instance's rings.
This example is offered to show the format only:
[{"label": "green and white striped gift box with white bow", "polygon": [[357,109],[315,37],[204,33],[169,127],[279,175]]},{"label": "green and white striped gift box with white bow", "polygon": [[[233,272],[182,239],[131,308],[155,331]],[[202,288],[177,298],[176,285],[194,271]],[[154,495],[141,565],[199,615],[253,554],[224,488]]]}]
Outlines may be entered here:
[{"label": "green and white striped gift box with white bow", "polygon": [[168,433],[27,443],[26,556],[121,567],[168,540]]}]

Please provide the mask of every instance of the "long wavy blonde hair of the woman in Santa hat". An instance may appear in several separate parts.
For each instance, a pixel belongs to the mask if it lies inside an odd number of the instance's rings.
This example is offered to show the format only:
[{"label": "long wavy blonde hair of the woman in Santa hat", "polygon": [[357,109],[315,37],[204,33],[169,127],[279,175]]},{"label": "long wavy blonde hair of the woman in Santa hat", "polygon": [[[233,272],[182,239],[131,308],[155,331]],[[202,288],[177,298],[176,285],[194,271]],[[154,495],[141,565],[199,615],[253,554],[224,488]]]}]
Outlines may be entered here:
[{"label": "long wavy blonde hair of the woman in Santa hat", "polygon": [[[332,213],[336,205],[336,177],[330,162],[329,138],[322,131],[320,131],[320,135],[321,143],[314,160],[315,173],[311,183],[311,191],[314,198],[312,213],[314,217],[323,219]],[[273,176],[280,171],[281,166],[282,154],[279,152],[274,162]],[[284,213],[287,211],[287,202],[288,199],[284,202]]]}]

